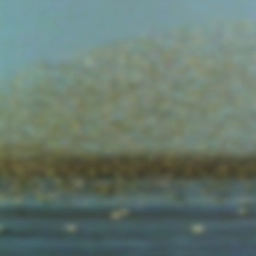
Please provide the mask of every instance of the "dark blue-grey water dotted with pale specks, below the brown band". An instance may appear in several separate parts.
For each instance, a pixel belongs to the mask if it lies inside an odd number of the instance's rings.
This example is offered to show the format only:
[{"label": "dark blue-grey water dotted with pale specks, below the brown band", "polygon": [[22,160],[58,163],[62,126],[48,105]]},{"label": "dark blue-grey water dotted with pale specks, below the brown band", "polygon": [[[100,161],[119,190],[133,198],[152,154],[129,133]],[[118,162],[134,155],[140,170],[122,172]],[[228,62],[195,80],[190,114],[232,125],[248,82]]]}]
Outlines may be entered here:
[{"label": "dark blue-grey water dotted with pale specks, below the brown band", "polygon": [[2,202],[0,254],[255,254],[255,181],[160,184],[142,181],[123,195]]}]

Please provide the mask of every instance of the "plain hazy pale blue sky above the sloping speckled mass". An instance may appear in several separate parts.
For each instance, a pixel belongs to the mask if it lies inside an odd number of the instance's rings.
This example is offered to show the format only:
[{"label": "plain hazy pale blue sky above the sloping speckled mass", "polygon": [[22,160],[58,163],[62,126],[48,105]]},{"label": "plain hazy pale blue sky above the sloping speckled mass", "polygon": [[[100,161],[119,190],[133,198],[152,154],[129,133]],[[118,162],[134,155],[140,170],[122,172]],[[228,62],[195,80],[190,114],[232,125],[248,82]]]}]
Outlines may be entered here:
[{"label": "plain hazy pale blue sky above the sloping speckled mass", "polygon": [[0,0],[0,76],[180,24],[253,19],[255,10],[254,0]]}]

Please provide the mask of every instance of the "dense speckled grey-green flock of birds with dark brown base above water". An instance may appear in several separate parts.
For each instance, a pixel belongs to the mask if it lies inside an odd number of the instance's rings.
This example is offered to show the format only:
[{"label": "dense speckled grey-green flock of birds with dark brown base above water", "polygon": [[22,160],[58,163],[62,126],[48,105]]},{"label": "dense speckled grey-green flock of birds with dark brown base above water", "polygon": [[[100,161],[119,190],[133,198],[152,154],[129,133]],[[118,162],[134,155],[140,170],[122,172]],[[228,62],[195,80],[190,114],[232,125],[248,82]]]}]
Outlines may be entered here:
[{"label": "dense speckled grey-green flock of birds with dark brown base above water", "polygon": [[255,43],[250,24],[188,26],[20,72],[0,99],[0,175],[253,175]]}]

